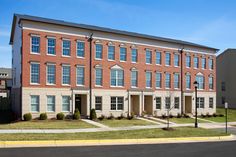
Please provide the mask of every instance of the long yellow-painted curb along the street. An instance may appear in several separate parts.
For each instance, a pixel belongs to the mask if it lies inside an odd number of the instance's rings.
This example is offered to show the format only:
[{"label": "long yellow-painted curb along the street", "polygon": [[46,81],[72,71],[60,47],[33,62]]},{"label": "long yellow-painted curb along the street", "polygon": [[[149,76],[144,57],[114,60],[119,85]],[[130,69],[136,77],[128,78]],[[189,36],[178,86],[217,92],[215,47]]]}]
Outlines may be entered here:
[{"label": "long yellow-painted curb along the street", "polygon": [[178,137],[147,139],[105,139],[105,140],[39,140],[39,141],[0,141],[0,148],[17,147],[60,147],[60,146],[98,146],[129,144],[189,143],[236,140],[234,135],[214,137]]}]

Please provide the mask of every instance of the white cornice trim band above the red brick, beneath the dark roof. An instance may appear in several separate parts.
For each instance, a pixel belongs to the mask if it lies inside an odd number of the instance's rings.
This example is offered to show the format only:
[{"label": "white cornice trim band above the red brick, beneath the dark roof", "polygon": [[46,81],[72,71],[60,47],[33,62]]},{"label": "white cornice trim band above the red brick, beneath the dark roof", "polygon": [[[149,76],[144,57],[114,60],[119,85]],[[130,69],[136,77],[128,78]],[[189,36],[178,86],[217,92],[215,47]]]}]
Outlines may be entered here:
[{"label": "white cornice trim band above the red brick, beneath the dark roof", "polygon": [[[22,28],[23,29],[27,29],[27,30],[33,30],[33,31],[41,31],[41,32],[48,32],[48,33],[57,33],[57,34],[85,37],[85,35],[79,35],[79,34],[74,34],[74,33],[64,33],[64,32],[59,32],[59,31],[49,31],[49,30],[43,30],[43,29],[37,29],[37,28],[31,28],[31,27],[25,27],[25,26],[22,27]],[[178,48],[171,48],[171,47],[166,47],[166,46],[157,46],[157,45],[152,45],[152,44],[143,44],[143,43],[139,43],[139,42],[130,42],[130,41],[127,41],[127,40],[116,40],[116,39],[103,38],[103,37],[98,37],[98,36],[93,36],[93,38],[94,39],[100,39],[100,40],[109,40],[109,41],[112,41],[112,42],[121,42],[121,43],[134,44],[134,45],[151,46],[151,47],[162,48],[162,49],[170,49],[170,50],[177,50],[177,51],[179,50]],[[179,45],[181,45],[181,44],[179,44]],[[184,50],[184,51],[185,52],[198,53],[198,54],[211,54],[213,56],[216,56],[216,53],[213,54],[213,53],[206,53],[206,52],[194,51],[194,50]]]}]

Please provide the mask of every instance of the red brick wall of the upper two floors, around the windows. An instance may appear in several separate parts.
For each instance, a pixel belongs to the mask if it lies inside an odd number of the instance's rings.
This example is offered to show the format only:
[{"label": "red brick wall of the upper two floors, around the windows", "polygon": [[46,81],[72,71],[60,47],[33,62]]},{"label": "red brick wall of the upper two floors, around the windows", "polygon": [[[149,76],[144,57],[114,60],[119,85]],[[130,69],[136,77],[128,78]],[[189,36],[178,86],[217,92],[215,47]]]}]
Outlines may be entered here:
[{"label": "red brick wall of the upper two floors, around the windows", "polygon": [[[40,36],[40,55],[30,54],[30,34],[37,34]],[[47,36],[54,36],[56,37],[56,56],[48,56],[47,55]],[[45,33],[45,32],[36,32],[31,30],[23,30],[23,45],[22,45],[22,86],[23,87],[57,87],[57,88],[71,88],[76,87],[76,65],[84,65],[85,66],[85,87],[89,87],[89,42],[84,37],[77,37],[77,36],[69,36],[69,35],[61,35],[61,34],[53,34],[53,33]],[[71,57],[62,57],[62,38],[68,38],[71,40]],[[84,59],[76,58],[76,40],[83,40],[85,41],[85,57]],[[103,59],[102,60],[95,60],[95,40],[93,41],[93,54],[92,54],[92,65],[93,65],[93,88],[103,88],[103,89],[111,89],[110,87],[110,67],[114,65],[119,65],[124,68],[124,87],[113,87],[112,89],[130,89],[131,81],[130,81],[130,69],[135,67],[138,69],[138,89],[145,89],[145,70],[152,71],[152,89],[155,90],[155,72],[160,71],[162,72],[162,88],[160,90],[166,90],[165,87],[165,79],[164,79],[164,72],[171,73],[171,90],[174,90],[174,73],[180,73],[180,67],[174,67],[174,53],[171,49],[162,49],[162,48],[155,48],[150,46],[142,46],[137,45],[138,49],[138,62],[131,63],[131,44],[126,44],[127,48],[127,61],[120,62],[119,61],[119,51],[120,51],[120,44],[119,42],[113,42],[115,44],[115,61],[108,61],[108,42],[109,41],[102,41],[103,44]],[[145,49],[148,48],[152,51],[152,64],[147,65],[145,62]],[[155,50],[158,50],[162,54],[162,63],[161,65],[156,65],[155,63]],[[165,66],[165,52],[168,51],[171,53],[171,66]],[[205,55],[207,58],[207,66],[205,70],[201,69],[201,56],[202,54],[197,54],[199,56],[199,68],[193,68],[193,53],[191,54],[191,68],[186,68],[185,66],[185,55],[186,52],[183,53],[183,71],[184,76],[186,72],[191,73],[191,87],[193,90],[193,82],[195,80],[195,75],[198,72],[201,72],[205,76],[205,90],[208,91],[208,75],[213,74],[214,76],[214,90],[216,87],[216,74],[215,74],[215,56],[214,59],[214,70],[208,70],[208,57],[209,55]],[[40,62],[40,85],[30,85],[30,61],[37,61]],[[46,85],[46,63],[52,62],[56,64],[56,85]],[[61,84],[61,64],[70,64],[71,65],[71,86],[62,86]],[[94,66],[101,65],[103,68],[103,87],[95,87],[95,73],[94,73]],[[185,77],[183,78],[183,85],[185,89]]]}]

